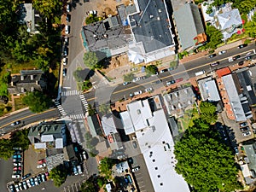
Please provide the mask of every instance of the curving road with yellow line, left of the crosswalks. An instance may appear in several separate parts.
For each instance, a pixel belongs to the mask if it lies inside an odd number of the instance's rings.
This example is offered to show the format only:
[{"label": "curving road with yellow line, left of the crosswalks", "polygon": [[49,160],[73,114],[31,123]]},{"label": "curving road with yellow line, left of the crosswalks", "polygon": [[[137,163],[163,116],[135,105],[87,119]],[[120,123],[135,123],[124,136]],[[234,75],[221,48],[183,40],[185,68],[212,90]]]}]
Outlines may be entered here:
[{"label": "curving road with yellow line, left of the crosswalks", "polygon": [[[0,121],[0,133],[9,132],[15,130],[19,125],[11,126],[10,124],[21,120],[20,125],[28,125],[33,122],[42,121],[44,119],[52,119],[60,117],[60,113],[56,108],[50,108],[43,113],[32,113],[30,110],[25,110],[20,113],[15,113],[9,117],[1,119]],[[24,123],[24,124],[23,124]]]}]

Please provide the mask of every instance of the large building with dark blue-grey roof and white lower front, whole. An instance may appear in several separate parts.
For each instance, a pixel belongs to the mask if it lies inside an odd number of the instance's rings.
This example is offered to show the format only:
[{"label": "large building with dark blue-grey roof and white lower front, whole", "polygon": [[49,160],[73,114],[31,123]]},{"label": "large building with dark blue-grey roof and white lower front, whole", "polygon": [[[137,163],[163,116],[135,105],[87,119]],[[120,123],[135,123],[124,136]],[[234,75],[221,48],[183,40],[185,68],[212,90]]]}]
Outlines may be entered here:
[{"label": "large building with dark blue-grey roof and white lower front, whole", "polygon": [[148,63],[174,55],[174,35],[166,2],[134,0],[134,7],[136,13],[127,14],[133,38],[129,44],[129,60]]}]

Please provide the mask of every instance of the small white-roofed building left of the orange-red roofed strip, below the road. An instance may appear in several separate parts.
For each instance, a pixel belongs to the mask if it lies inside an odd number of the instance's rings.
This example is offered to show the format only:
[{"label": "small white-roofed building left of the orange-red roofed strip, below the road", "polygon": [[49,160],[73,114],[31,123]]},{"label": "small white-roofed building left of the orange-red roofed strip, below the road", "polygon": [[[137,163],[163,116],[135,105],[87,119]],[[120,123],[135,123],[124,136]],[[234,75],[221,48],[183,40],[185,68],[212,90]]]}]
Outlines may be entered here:
[{"label": "small white-roofed building left of the orange-red roofed strip, below the road", "polygon": [[212,77],[206,79],[199,79],[197,81],[202,101],[219,102],[220,96],[218,94],[217,85]]}]

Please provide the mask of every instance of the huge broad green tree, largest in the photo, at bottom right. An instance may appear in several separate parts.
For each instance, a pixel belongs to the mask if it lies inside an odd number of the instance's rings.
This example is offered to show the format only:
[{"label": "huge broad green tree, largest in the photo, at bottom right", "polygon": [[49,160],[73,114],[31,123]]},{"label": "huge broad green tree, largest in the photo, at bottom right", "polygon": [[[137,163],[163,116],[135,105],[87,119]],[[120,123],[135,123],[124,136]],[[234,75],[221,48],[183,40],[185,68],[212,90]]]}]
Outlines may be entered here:
[{"label": "huge broad green tree, largest in the photo, at bottom right", "polygon": [[198,192],[234,191],[237,182],[234,156],[219,141],[217,131],[204,120],[196,119],[175,145],[176,171]]}]

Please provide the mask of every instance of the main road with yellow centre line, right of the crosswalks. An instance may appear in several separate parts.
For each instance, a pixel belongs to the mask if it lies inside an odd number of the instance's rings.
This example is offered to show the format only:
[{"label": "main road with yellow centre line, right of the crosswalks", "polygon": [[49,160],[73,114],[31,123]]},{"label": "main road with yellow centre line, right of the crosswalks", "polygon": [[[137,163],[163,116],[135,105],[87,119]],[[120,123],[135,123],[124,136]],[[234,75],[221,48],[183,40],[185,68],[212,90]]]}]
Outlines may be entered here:
[{"label": "main road with yellow centre line, right of the crosswalks", "polygon": [[[200,72],[202,70],[205,70],[206,73],[211,73],[213,70],[216,70],[218,68],[235,65],[239,61],[244,61],[245,55],[248,52],[253,53],[253,49],[255,49],[255,44],[249,44],[247,47],[243,49],[228,49],[226,54],[217,54],[212,59],[209,59],[208,56],[206,55],[199,59],[179,65],[177,69],[172,70],[171,72],[160,73],[158,76],[143,79],[137,81],[136,83],[127,84],[125,86],[123,84],[119,84],[115,87],[112,87],[106,86],[106,84],[99,84],[96,90],[92,90],[90,93],[86,93],[84,96],[90,104],[96,103],[96,106],[102,103],[108,103],[109,101],[116,102],[122,98],[128,98],[131,93],[134,93],[137,90],[143,90],[144,92],[144,90],[148,87],[158,89],[162,86],[165,86],[166,82],[172,79],[183,78],[183,81],[185,81],[195,77],[195,73]],[[228,58],[234,55],[241,55],[241,58],[237,61],[229,62]],[[255,58],[256,55],[253,55],[253,59]],[[210,64],[216,61],[219,61],[219,65],[216,67],[211,67]],[[161,79],[162,82],[160,84],[152,85],[152,83],[158,79]]]}]

